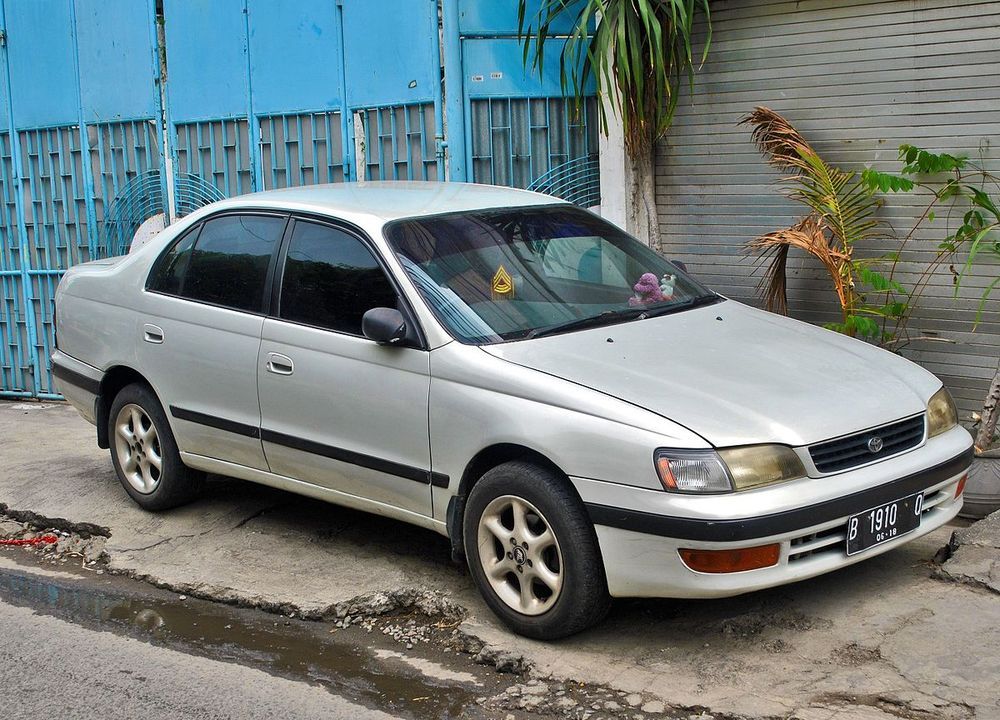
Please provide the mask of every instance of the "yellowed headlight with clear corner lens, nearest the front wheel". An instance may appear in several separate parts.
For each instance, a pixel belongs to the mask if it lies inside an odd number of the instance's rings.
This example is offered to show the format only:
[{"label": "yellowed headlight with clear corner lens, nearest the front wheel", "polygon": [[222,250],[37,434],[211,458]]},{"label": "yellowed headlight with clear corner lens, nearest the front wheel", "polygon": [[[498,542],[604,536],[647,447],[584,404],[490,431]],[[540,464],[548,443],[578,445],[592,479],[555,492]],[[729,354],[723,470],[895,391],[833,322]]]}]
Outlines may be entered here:
[{"label": "yellowed headlight with clear corner lens, nearest the front wheel", "polygon": [[656,470],[664,489],[684,493],[722,493],[805,477],[795,452],[784,445],[753,445],[727,450],[657,450]]}]

